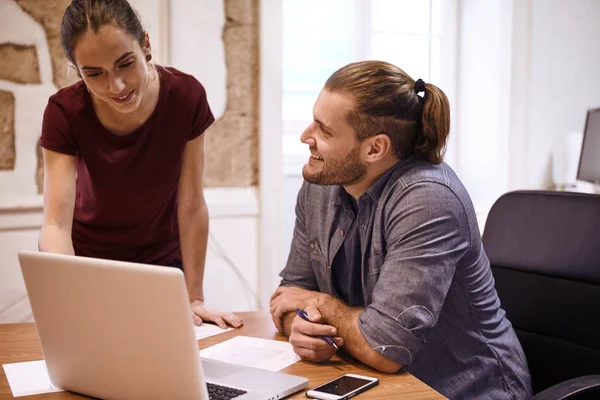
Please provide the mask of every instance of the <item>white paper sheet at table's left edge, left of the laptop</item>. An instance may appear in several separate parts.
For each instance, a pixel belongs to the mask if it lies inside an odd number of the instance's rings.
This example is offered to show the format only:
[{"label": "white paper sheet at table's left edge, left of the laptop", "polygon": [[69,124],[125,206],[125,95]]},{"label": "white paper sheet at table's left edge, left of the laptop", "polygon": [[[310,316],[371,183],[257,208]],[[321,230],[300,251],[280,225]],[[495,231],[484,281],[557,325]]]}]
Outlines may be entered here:
[{"label": "white paper sheet at table's left edge, left of the laptop", "polygon": [[62,392],[50,383],[44,360],[4,364],[3,367],[14,397]]}]

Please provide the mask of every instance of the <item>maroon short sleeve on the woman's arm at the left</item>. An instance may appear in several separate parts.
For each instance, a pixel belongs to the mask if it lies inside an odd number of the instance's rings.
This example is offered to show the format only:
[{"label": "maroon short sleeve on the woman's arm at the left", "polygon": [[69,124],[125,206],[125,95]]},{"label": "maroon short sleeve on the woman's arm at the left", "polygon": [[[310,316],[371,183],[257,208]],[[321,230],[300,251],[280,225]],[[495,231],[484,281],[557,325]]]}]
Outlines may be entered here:
[{"label": "maroon short sleeve on the woman's arm at the left", "polygon": [[77,142],[64,108],[52,98],[44,111],[40,145],[58,153],[77,155]]}]

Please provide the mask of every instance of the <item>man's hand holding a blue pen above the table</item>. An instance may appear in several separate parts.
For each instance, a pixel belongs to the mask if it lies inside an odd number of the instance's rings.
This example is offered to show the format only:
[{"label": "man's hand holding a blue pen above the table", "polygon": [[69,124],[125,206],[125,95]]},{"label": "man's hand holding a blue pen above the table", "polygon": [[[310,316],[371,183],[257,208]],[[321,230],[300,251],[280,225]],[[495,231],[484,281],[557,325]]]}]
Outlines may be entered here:
[{"label": "man's hand holding a blue pen above the table", "polygon": [[310,305],[306,307],[309,321],[305,321],[299,316],[292,322],[292,332],[290,334],[290,344],[294,352],[303,360],[312,362],[323,362],[329,360],[337,349],[325,340],[319,337],[333,336],[333,340],[338,347],[344,345],[341,337],[335,337],[337,330],[330,325],[322,325],[321,313],[316,307]]}]

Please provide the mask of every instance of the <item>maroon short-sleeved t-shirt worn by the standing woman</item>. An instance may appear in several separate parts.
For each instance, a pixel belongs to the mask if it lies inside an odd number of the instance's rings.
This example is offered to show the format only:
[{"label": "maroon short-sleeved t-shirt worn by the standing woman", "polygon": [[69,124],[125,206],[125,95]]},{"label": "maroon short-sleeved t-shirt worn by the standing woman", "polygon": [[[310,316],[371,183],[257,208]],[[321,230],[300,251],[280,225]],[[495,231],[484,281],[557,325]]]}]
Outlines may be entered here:
[{"label": "maroon short-sleeved t-shirt worn by the standing woman", "polygon": [[81,81],[48,101],[41,146],[76,156],[77,255],[158,265],[181,260],[177,187],[183,151],[214,117],[200,82],[174,68],[156,68],[156,108],[125,136],[100,123]]}]

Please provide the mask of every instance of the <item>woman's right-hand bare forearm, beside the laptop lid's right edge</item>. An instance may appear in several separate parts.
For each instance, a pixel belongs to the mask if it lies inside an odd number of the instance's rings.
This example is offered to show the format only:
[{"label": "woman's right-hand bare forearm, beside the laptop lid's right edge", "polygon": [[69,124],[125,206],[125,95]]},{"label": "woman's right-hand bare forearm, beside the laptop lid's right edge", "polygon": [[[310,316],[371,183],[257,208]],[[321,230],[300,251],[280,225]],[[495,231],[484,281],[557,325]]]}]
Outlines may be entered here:
[{"label": "woman's right-hand bare forearm, beside the laptop lid's right edge", "polygon": [[180,211],[179,237],[183,270],[190,300],[204,301],[204,265],[208,245],[208,209],[206,205],[193,212]]}]

